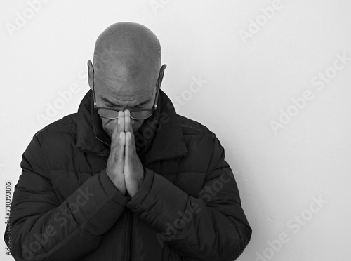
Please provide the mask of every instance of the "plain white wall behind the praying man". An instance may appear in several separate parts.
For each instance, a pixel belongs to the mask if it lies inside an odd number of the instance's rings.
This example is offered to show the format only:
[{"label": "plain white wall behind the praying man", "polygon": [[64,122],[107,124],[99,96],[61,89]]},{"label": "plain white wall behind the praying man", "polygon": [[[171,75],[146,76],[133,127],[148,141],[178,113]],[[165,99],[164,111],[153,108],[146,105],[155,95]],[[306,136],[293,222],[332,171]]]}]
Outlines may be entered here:
[{"label": "plain white wall behind the praying man", "polygon": [[[260,8],[270,0],[30,1],[0,4],[1,223],[5,182],[18,181],[32,136],[77,111],[95,39],[132,21],[159,37],[168,65],[162,88],[174,102],[180,96],[178,112],[225,147],[253,229],[239,260],[350,260],[351,1],[282,0],[267,21]],[[240,30],[252,32],[257,19],[259,32],[243,41]],[[338,54],[347,58],[335,70]],[[315,77],[326,71],[322,86]],[[199,77],[207,82],[191,93]],[[77,92],[60,104],[58,92],[72,85]],[[304,91],[310,100],[291,107]],[[290,121],[282,117],[289,107]],[[271,121],[282,128],[274,133]],[[323,208],[312,203],[318,198]],[[13,260],[5,252],[0,259]]]}]

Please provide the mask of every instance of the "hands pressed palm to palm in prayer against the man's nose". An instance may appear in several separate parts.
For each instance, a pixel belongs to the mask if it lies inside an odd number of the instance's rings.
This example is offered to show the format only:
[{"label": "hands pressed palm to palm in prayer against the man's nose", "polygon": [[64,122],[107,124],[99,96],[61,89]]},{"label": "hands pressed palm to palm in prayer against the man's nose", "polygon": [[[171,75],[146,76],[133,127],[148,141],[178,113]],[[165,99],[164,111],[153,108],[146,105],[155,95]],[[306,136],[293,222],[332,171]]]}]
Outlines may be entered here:
[{"label": "hands pressed palm to palm in prayer against the man's nose", "polygon": [[119,111],[111,136],[111,152],[106,173],[122,194],[134,196],[143,182],[144,168],[136,154],[130,112]]}]

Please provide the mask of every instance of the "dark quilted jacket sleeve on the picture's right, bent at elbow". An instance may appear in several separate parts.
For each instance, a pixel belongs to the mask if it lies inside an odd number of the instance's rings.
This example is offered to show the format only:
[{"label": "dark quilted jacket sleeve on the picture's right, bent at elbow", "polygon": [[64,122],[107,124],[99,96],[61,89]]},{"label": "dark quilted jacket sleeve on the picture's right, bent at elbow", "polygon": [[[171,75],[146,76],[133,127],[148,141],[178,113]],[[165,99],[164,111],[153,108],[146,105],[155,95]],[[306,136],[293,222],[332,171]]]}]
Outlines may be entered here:
[{"label": "dark quilted jacket sleeve on the picture's right, bent at elbow", "polygon": [[189,196],[162,175],[145,168],[144,182],[127,204],[184,260],[234,260],[251,238],[237,183],[224,160],[224,149],[217,138],[213,143],[198,197]]}]

